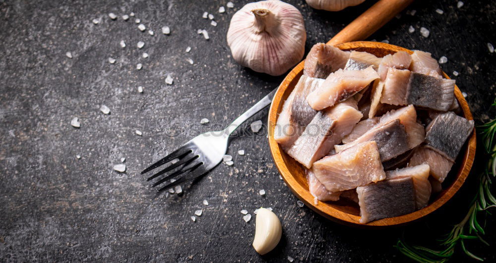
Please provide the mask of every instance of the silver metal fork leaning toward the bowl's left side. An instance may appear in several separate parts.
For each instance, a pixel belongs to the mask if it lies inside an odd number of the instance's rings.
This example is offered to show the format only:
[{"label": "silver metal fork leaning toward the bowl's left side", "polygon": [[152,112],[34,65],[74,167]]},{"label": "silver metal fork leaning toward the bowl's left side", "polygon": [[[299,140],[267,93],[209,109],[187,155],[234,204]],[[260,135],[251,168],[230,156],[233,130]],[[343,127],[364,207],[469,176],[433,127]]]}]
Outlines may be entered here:
[{"label": "silver metal fork leaning toward the bowl's left side", "polygon": [[[141,174],[158,168],[172,160],[179,159],[161,171],[148,177],[147,181],[150,181],[160,175],[165,175],[165,177],[155,182],[152,187],[163,184],[168,180],[175,179],[162,186],[158,192],[168,190],[204,175],[222,161],[223,156],[227,152],[227,147],[229,146],[229,136],[243,124],[243,122],[248,120],[249,117],[270,105],[276,91],[277,89],[271,91],[267,96],[263,97],[263,99],[245,111],[245,113],[241,114],[241,116],[235,119],[233,123],[224,130],[206,132],[194,137],[170,155],[144,169]],[[167,174],[176,168],[178,168],[176,171]]]}]

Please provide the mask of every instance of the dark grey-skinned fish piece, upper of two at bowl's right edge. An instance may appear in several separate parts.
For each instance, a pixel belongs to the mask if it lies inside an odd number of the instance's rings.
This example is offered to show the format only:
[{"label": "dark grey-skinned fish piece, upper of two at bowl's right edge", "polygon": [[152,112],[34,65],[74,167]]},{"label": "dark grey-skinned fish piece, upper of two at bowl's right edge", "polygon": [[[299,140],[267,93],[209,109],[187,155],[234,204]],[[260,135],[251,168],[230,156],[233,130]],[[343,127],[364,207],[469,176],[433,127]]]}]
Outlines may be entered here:
[{"label": "dark grey-skinned fish piece, upper of two at bowl's right edge", "polygon": [[455,81],[413,72],[406,92],[407,104],[447,111],[454,99]]}]

